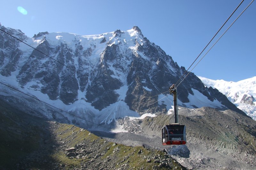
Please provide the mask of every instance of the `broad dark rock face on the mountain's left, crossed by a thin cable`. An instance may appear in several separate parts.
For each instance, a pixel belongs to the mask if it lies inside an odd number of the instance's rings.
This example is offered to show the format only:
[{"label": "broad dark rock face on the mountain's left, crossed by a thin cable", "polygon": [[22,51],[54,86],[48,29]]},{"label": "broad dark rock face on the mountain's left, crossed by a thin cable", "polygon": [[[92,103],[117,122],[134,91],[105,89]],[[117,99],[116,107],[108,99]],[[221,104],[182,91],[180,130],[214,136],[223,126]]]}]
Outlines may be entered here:
[{"label": "broad dark rock face on the mountain's left, crossed by a thin cable", "polygon": [[[60,43],[53,48],[47,40],[43,40],[36,49],[75,70],[73,51],[67,44]],[[65,104],[74,102],[78,90],[75,72],[66,71],[63,64],[51,60],[37,50],[33,50],[27,63],[20,69],[17,77],[20,85],[33,82],[33,85],[41,85],[41,92],[47,94],[51,100],[59,98]]]}]

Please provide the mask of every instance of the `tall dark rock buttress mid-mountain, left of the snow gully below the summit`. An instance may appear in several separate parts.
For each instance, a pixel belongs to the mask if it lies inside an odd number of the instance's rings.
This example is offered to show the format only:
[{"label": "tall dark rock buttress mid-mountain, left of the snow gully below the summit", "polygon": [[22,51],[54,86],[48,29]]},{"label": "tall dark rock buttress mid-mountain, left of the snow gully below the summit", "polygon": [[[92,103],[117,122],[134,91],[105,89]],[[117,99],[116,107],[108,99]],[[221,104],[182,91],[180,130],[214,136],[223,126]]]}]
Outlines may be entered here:
[{"label": "tall dark rock buttress mid-mountain, left of the snow gully below the summit", "polygon": [[107,46],[101,53],[98,70],[85,96],[87,101],[92,102],[92,106],[95,108],[101,110],[117,101],[119,95],[114,90],[119,89],[123,82],[118,79],[115,72],[116,70],[125,71],[124,68],[119,67],[118,63],[121,61],[122,55],[119,47],[115,44]]}]

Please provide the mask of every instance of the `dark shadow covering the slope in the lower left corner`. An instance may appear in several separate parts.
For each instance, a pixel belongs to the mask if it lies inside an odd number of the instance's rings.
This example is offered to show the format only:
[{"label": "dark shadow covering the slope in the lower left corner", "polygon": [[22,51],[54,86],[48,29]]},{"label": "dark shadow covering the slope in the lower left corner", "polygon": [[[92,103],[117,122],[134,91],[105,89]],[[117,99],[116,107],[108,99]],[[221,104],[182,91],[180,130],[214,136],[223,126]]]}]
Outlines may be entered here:
[{"label": "dark shadow covering the slope in the lower left corner", "polygon": [[[2,96],[3,97],[3,96]],[[0,169],[53,169],[51,124],[0,99]]]}]

